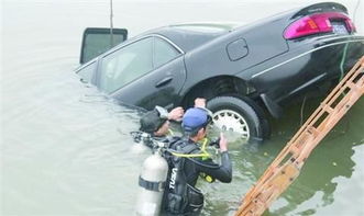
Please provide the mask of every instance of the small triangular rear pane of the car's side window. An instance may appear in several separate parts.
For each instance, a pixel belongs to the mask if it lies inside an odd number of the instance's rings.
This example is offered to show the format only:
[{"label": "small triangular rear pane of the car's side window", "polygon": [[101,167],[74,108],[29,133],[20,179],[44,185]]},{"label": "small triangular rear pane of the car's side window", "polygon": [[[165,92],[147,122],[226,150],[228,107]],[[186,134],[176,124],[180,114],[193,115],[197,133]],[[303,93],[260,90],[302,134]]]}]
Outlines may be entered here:
[{"label": "small triangular rear pane of the car's side window", "polygon": [[176,58],[180,53],[166,41],[155,37],[154,39],[154,68],[157,68]]}]

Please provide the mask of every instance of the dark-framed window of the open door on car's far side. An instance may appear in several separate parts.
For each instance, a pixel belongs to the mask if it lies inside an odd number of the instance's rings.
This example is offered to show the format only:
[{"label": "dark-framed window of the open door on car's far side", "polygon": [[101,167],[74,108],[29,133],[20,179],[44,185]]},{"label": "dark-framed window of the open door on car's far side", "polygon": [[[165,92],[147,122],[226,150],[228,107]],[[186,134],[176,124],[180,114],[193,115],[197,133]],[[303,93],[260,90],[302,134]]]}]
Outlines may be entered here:
[{"label": "dark-framed window of the open door on car's far side", "polygon": [[128,38],[125,29],[87,27],[84,31],[79,62],[84,64]]}]

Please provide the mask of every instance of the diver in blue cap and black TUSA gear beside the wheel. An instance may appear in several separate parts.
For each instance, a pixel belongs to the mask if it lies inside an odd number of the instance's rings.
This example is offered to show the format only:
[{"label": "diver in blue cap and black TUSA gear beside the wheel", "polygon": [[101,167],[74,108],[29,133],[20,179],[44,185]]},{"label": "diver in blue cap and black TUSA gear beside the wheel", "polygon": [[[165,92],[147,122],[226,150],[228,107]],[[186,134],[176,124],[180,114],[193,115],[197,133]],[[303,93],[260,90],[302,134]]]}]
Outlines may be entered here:
[{"label": "diver in blue cap and black TUSA gear beside the wheel", "polygon": [[199,144],[206,138],[210,121],[205,103],[187,110],[183,117],[184,137],[169,146],[174,151],[168,159],[172,171],[168,173],[163,207],[166,215],[199,215],[203,195],[195,185],[200,175],[224,183],[232,180],[232,164],[223,134],[220,134],[219,141],[221,164],[206,157]]}]

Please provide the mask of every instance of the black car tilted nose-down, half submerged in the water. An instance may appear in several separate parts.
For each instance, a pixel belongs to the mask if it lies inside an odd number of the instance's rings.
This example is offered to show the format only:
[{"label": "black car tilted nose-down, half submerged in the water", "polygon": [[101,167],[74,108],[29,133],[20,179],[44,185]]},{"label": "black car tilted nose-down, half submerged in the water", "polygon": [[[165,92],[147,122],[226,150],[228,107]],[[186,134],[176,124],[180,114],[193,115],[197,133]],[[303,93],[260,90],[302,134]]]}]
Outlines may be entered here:
[{"label": "black car tilted nose-down, half submerged in the water", "polygon": [[[152,110],[208,100],[213,123],[246,139],[268,137],[293,98],[334,83],[364,55],[348,10],[317,3],[244,26],[183,24],[126,39],[84,64],[85,81]],[[328,84],[330,86],[330,84]]]}]

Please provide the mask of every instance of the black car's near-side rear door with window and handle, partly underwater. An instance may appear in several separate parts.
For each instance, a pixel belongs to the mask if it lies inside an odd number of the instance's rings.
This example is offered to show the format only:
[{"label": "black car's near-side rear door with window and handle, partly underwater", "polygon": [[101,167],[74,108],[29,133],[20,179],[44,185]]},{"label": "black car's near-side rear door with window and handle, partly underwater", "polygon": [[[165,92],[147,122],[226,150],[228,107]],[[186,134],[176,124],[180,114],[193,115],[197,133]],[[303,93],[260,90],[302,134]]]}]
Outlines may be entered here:
[{"label": "black car's near-side rear door with window and handle, partly underwater", "polygon": [[101,59],[98,86],[122,103],[173,107],[186,79],[183,54],[163,36],[143,37]]}]

